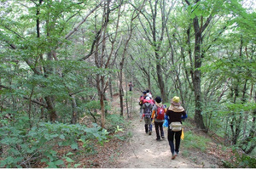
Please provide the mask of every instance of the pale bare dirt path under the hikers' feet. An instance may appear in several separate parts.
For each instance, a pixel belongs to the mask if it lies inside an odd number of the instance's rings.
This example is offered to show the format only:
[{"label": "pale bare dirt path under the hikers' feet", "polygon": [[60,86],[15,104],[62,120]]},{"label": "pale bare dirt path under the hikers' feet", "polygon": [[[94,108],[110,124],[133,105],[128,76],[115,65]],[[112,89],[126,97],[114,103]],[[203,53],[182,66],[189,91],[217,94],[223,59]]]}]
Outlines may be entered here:
[{"label": "pale bare dirt path under the hikers' feet", "polygon": [[[139,121],[139,116],[133,117],[131,121],[132,137],[125,146],[123,155],[116,161],[119,168],[195,168],[201,167],[192,161],[183,158],[183,143],[181,143],[180,154],[175,160],[171,160],[171,150],[167,138],[156,141],[153,125],[151,136],[144,132],[144,122]],[[165,128],[167,137],[167,128]]]}]

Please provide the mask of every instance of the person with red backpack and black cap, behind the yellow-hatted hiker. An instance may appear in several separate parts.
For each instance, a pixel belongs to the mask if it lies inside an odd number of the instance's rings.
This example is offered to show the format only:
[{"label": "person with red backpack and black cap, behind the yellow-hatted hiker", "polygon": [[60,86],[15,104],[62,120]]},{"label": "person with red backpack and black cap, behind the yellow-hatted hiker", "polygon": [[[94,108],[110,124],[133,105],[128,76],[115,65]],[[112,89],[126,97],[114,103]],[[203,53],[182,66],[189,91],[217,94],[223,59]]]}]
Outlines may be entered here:
[{"label": "person with red backpack and black cap, behind the yellow-hatted hiker", "polygon": [[161,138],[165,138],[163,123],[165,121],[166,106],[162,104],[162,99],[159,96],[156,97],[154,101],[155,104],[152,110],[151,118],[154,119],[156,140],[160,141],[160,136]]}]

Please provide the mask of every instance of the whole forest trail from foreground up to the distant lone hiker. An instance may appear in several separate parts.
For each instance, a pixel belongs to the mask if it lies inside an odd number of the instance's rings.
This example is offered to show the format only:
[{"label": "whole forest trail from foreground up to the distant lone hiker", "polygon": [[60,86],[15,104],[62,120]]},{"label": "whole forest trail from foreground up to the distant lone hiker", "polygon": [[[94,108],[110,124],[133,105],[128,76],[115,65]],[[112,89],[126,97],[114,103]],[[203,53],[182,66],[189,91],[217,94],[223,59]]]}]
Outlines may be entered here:
[{"label": "whole forest trail from foreground up to the distant lone hiker", "polygon": [[[137,95],[139,96],[139,95]],[[138,97],[133,97],[137,103]],[[206,154],[194,150],[191,156],[183,156],[183,141],[180,145],[180,153],[175,160],[172,160],[170,146],[167,140],[167,128],[164,128],[165,138],[156,141],[154,124],[152,125],[152,135],[144,131],[144,121],[140,121],[140,106],[137,104],[133,109],[135,114],[131,119],[127,119],[131,124],[129,132],[131,138],[122,145],[121,153],[110,166],[115,168],[212,168],[219,167],[218,162]],[[191,158],[190,158],[191,157]],[[196,159],[196,160],[195,160]]]}]

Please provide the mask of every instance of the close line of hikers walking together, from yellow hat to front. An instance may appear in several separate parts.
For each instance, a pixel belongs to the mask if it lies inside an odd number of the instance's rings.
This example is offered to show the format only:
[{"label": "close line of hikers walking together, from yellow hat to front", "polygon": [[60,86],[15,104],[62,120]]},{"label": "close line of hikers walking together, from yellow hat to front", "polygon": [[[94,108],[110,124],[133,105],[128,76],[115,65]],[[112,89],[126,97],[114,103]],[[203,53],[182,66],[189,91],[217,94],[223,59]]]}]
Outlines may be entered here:
[{"label": "close line of hikers walking together, from yellow hat to front", "polygon": [[144,119],[145,132],[148,135],[152,134],[152,123],[154,123],[156,140],[160,141],[160,138],[165,138],[163,127],[168,127],[167,138],[171,148],[172,160],[174,160],[179,152],[182,120],[187,118],[179,97],[173,97],[171,105],[167,108],[165,104],[162,104],[162,99],[159,96],[153,99],[152,93],[146,90],[140,96],[139,104],[140,121]]}]

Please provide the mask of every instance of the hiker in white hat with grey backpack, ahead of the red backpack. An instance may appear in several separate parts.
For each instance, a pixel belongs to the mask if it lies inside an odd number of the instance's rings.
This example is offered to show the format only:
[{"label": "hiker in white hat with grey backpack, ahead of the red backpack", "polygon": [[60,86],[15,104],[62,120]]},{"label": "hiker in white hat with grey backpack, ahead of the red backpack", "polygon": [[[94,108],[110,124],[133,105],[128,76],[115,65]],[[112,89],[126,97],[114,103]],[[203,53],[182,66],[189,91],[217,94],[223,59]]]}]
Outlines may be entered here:
[{"label": "hiker in white hat with grey backpack, ahead of the red backpack", "polygon": [[[151,114],[153,109],[153,104],[150,104],[150,98],[147,97],[144,99],[145,103],[143,104],[143,115],[140,121],[145,121],[145,132],[149,135],[152,133],[152,124],[151,124]],[[148,131],[149,127],[149,131]]]}]

